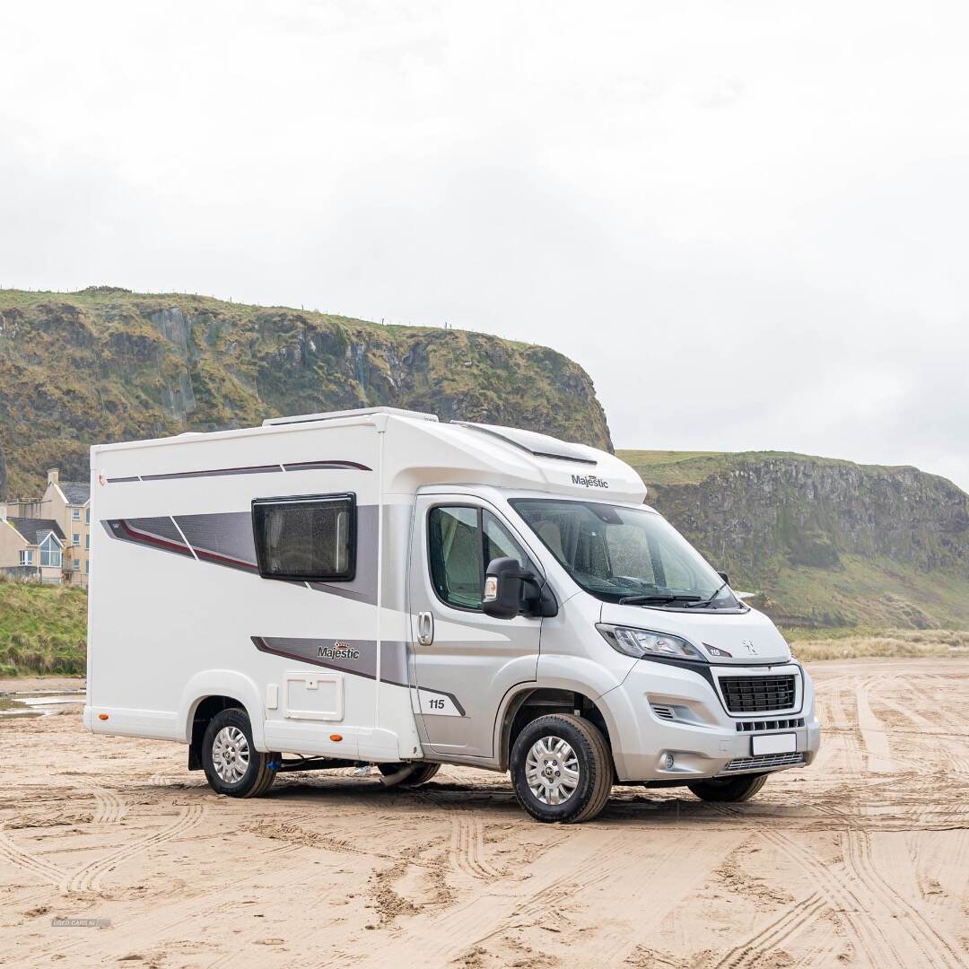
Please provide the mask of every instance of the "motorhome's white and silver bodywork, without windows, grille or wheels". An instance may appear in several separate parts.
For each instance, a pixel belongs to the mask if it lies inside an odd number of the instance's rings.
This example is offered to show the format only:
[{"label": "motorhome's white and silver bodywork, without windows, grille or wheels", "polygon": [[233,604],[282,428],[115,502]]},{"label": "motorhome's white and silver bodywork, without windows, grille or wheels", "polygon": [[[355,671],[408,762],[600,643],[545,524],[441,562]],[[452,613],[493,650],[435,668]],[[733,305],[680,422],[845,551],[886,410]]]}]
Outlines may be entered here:
[{"label": "motorhome's white and silver bodywork, without windows, grille or wheels", "polygon": [[[715,639],[734,653],[724,675],[796,670],[797,709],[784,720],[801,723],[783,733],[809,763],[819,736],[810,679],[765,616],[604,605],[516,515],[509,498],[522,495],[641,507],[645,488],[631,468],[583,451],[578,463],[537,456],[387,410],[93,448],[85,725],[188,743],[199,704],[228,697],[263,751],[504,768],[508,715],[547,689],[596,704],[620,779],[712,776],[751,756],[720,668],[703,678],[620,654],[595,629],[610,622]],[[261,578],[254,499],[348,493],[352,580]],[[499,620],[444,603],[426,541],[427,516],[441,505],[494,516],[546,578],[558,613]],[[750,641],[756,659],[740,648]],[[657,704],[679,712],[662,720]],[[760,742],[772,754],[792,741]],[[668,751],[672,770],[659,766]]]}]

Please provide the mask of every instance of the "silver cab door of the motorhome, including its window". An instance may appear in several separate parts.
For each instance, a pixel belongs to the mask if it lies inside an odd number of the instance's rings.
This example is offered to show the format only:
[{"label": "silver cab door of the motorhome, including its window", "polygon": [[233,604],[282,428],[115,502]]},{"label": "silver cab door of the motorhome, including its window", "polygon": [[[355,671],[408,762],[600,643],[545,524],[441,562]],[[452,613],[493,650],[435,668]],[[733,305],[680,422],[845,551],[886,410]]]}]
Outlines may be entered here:
[{"label": "silver cab door of the motorhome, including its window", "polygon": [[484,501],[427,495],[415,513],[409,585],[422,741],[437,754],[493,757],[499,703],[536,677],[542,619],[486,616],[485,568],[508,555],[541,572],[521,536]]}]

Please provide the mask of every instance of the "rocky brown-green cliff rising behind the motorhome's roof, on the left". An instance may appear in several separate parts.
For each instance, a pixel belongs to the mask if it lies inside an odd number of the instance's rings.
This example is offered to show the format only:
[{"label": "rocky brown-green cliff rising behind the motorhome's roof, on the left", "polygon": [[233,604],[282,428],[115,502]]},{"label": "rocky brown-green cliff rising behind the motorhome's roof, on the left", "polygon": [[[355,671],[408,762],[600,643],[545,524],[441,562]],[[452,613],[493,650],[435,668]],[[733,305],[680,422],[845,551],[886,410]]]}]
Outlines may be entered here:
[{"label": "rocky brown-green cliff rising behind the motorhome's roof, on the left", "polygon": [[588,375],[546,347],[204,297],[0,292],[0,494],[37,491],[47,467],[86,477],[99,442],[376,405],[611,449]]}]

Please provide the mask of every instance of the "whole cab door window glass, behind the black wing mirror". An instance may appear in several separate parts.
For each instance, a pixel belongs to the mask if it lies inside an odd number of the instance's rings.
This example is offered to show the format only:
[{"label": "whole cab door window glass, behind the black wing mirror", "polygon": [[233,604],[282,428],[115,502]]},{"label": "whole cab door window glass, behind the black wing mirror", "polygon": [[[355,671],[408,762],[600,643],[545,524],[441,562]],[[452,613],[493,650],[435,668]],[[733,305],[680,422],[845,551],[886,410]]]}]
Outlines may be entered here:
[{"label": "whole cab door window glass, behind the black wing mirror", "polygon": [[485,569],[492,559],[508,556],[522,568],[533,568],[524,549],[495,516],[467,505],[430,510],[427,551],[434,591],[455,609],[481,610]]}]

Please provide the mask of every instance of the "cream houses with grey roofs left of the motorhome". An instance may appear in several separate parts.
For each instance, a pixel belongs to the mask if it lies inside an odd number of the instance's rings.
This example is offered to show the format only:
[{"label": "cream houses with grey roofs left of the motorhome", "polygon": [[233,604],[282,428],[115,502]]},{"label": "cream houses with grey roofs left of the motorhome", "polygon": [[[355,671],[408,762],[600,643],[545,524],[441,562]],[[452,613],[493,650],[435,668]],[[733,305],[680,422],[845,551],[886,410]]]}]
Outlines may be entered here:
[{"label": "cream houses with grey roofs left of the motorhome", "polygon": [[[54,581],[56,570],[56,581],[87,588],[91,571],[91,486],[87,482],[62,482],[57,468],[51,468],[43,497],[12,499],[0,504],[0,514],[0,526],[8,526],[0,527],[0,569],[45,582]],[[37,543],[41,531],[44,537]],[[48,541],[48,535],[54,538]],[[42,547],[44,542],[47,547]]]}]

